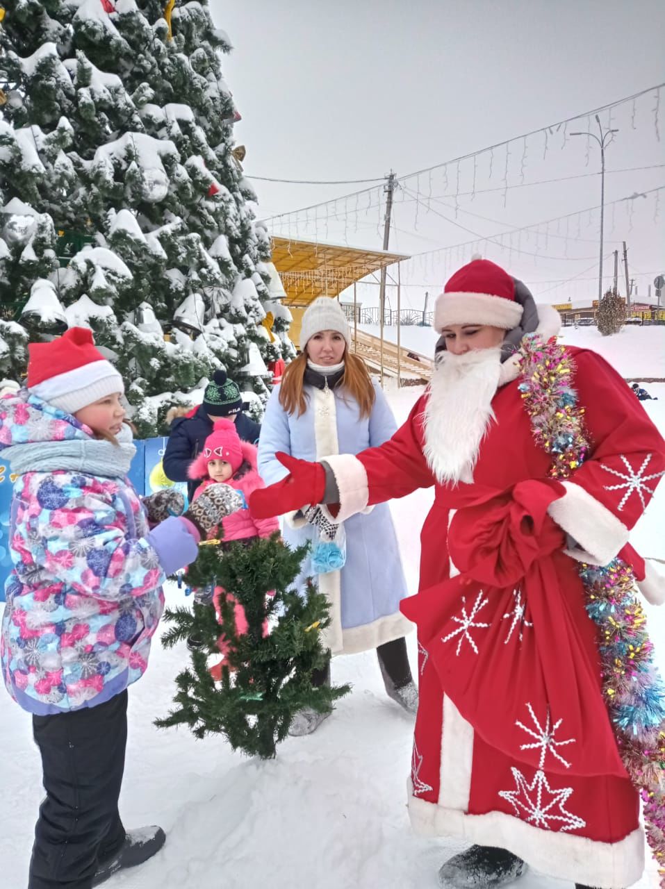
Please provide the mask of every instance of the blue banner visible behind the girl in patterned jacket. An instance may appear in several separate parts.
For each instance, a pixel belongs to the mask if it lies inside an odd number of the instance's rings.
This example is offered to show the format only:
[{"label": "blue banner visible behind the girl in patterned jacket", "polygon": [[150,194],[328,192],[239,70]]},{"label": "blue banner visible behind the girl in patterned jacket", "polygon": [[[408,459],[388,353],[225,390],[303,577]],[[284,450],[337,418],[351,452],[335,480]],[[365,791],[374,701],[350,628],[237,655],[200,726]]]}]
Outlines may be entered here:
[{"label": "blue banner visible behind the girl in patterned jacket", "polygon": [[[164,476],[162,458],[168,438],[137,440],[136,454],[129,469],[129,480],[141,496],[156,493],[162,488],[176,488],[187,497],[185,482],[172,482]],[[12,506],[12,489],[15,476],[9,467],[0,463],[0,602],[4,602],[4,581],[12,570],[9,546],[9,517]]]}]

